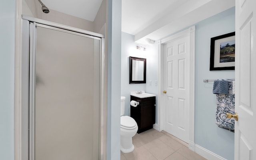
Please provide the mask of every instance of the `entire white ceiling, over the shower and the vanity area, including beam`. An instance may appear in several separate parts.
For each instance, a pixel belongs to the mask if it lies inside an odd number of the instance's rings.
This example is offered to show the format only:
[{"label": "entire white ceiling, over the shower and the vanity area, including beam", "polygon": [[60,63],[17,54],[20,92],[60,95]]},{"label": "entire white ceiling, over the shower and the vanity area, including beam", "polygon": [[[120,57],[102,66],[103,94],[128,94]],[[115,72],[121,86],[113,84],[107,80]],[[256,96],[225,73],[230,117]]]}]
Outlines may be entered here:
[{"label": "entire white ceiling, over the shower and the vanity area, including beam", "polygon": [[[102,0],[42,0],[52,10],[94,21]],[[122,0],[122,32],[142,44],[235,6],[235,0]]]}]

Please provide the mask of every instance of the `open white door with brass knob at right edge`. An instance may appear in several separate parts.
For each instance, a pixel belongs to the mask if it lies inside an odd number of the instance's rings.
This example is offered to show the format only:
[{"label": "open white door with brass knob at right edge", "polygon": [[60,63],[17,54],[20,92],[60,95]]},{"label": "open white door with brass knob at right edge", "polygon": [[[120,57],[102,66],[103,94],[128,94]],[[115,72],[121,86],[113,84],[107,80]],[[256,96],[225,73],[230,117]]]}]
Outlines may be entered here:
[{"label": "open white door with brass knob at right edge", "polygon": [[255,13],[255,0],[236,0],[235,160],[256,159]]}]

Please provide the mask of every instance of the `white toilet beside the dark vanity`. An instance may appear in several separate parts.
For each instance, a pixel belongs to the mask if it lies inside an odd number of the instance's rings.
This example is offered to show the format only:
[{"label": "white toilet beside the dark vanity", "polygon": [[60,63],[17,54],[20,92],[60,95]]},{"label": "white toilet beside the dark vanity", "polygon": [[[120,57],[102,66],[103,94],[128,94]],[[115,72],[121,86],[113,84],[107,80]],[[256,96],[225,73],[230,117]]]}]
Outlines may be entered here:
[{"label": "white toilet beside the dark vanity", "polygon": [[132,137],[138,131],[138,125],[136,121],[130,116],[124,115],[125,97],[121,96],[121,117],[120,117],[120,134],[121,134],[121,151],[123,153],[129,153],[134,150],[132,144]]}]

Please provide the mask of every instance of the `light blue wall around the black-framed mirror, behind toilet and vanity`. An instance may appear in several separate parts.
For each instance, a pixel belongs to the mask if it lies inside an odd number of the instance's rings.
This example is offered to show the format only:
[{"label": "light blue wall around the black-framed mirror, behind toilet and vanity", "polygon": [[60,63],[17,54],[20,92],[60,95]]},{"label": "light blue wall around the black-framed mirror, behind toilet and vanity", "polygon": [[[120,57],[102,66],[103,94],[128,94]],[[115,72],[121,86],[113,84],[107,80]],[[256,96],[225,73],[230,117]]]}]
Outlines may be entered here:
[{"label": "light blue wall around the black-framed mirror, behind toilet and vanity", "polygon": [[[146,47],[146,50],[138,50],[136,46]],[[126,97],[125,115],[130,115],[130,92],[144,90],[147,93],[157,94],[158,86],[154,85],[158,74],[157,44],[142,45],[134,42],[134,35],[122,32],[121,52],[121,95]],[[129,84],[130,56],[146,58],[146,84]],[[149,85],[149,81],[152,85]],[[157,108],[156,108],[157,111]],[[156,114],[157,120],[157,114]],[[157,122],[157,121],[156,121]]]}]

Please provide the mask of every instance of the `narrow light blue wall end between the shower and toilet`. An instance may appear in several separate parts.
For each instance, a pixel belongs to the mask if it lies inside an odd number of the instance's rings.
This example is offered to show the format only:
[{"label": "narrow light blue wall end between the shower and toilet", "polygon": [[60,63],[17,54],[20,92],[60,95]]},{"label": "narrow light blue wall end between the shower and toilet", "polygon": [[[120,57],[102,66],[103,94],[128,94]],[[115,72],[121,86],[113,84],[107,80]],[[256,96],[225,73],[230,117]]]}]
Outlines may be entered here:
[{"label": "narrow light blue wall end between the shower and toilet", "polygon": [[107,160],[120,160],[121,0],[108,0]]}]

